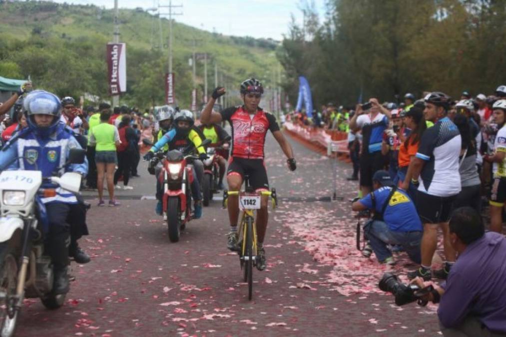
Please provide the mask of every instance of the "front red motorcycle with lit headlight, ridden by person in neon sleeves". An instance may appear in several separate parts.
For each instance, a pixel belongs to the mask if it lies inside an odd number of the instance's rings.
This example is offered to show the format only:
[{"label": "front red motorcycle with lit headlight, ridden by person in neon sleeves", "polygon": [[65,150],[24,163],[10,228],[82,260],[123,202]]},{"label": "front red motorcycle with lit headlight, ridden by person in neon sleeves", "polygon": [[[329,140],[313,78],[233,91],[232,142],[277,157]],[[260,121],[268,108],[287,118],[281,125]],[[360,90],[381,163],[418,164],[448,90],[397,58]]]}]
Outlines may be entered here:
[{"label": "front red motorcycle with lit headlight, ridden by person in neon sleeves", "polygon": [[[147,145],[152,145],[145,141]],[[206,146],[210,141],[204,140],[201,146]],[[148,172],[155,174],[155,167],[161,161],[161,170],[158,179],[163,184],[162,215],[163,221],[167,222],[168,238],[171,242],[178,242],[181,230],[185,229],[186,223],[192,219],[192,197],[190,184],[193,182],[191,164],[198,159],[192,153],[193,146],[182,151],[171,150],[166,154],[163,151],[155,153],[148,165]]]}]

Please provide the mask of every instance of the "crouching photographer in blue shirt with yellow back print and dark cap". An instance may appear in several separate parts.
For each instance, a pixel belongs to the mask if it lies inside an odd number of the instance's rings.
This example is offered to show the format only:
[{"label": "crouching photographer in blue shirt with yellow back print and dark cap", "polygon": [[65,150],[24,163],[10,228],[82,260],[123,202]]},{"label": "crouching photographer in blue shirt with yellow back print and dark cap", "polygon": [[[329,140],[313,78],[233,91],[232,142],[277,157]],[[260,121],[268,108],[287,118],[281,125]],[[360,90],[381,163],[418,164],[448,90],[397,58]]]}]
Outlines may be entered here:
[{"label": "crouching photographer in blue shirt with yellow back print and dark cap", "polygon": [[374,191],[352,204],[354,211],[371,209],[374,217],[364,226],[369,244],[380,263],[394,264],[390,245],[400,245],[409,258],[420,263],[423,235],[416,208],[407,193],[398,189],[386,171],[372,177]]}]

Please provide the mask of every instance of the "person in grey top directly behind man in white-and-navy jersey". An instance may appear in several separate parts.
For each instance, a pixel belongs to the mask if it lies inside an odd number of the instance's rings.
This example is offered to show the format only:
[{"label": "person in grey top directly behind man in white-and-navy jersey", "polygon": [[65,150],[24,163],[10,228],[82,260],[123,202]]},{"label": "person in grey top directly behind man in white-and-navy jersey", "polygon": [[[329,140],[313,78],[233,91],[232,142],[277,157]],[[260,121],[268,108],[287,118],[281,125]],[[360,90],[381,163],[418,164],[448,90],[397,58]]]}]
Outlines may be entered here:
[{"label": "person in grey top directly behind man in white-and-navy jersey", "polygon": [[457,198],[453,201],[453,208],[469,206],[480,214],[481,198],[480,187],[481,181],[476,167],[476,141],[471,133],[470,120],[466,115],[457,113],[453,118],[453,123],[457,125],[462,139],[462,147],[460,150],[460,165],[458,172],[460,173],[460,185],[462,190],[457,194]]}]

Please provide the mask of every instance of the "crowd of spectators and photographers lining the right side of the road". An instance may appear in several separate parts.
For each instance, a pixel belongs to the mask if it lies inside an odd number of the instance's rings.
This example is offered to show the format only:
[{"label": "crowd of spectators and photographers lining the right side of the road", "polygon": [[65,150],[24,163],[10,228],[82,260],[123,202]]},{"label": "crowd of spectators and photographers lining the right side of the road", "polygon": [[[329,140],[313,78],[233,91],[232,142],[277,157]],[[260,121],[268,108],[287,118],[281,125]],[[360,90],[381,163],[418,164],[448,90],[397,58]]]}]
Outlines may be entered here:
[{"label": "crowd of spectators and photographers lining the right side of the road", "polygon": [[329,103],[312,118],[294,117],[348,133],[347,179],[360,189],[352,209],[371,217],[362,255],[393,265],[394,253],[405,251],[419,265],[407,273],[413,282],[447,280],[430,296],[441,301],[444,335],[506,333],[506,304],[497,300],[506,289],[506,86],[489,96],[465,91],[456,100],[427,92],[418,100],[408,93],[400,104]]}]

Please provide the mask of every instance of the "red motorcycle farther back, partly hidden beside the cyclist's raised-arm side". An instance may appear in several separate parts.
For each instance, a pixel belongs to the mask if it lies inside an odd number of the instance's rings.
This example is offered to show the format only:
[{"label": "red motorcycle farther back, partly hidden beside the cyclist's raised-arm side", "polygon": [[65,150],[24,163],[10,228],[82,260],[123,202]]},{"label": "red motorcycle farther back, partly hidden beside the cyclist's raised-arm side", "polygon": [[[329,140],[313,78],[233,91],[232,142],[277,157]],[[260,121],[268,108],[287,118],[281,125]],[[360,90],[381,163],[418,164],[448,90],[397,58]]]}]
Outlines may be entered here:
[{"label": "red motorcycle farther back, partly hidden beside the cyclist's raised-arm side", "polygon": [[[228,139],[230,139],[230,137]],[[209,201],[213,200],[213,194],[218,193],[218,184],[220,181],[218,156],[224,151],[228,151],[229,146],[229,143],[224,143],[222,146],[207,148],[207,159],[203,162],[204,177],[202,181],[202,204],[204,206],[208,206]]]}]

